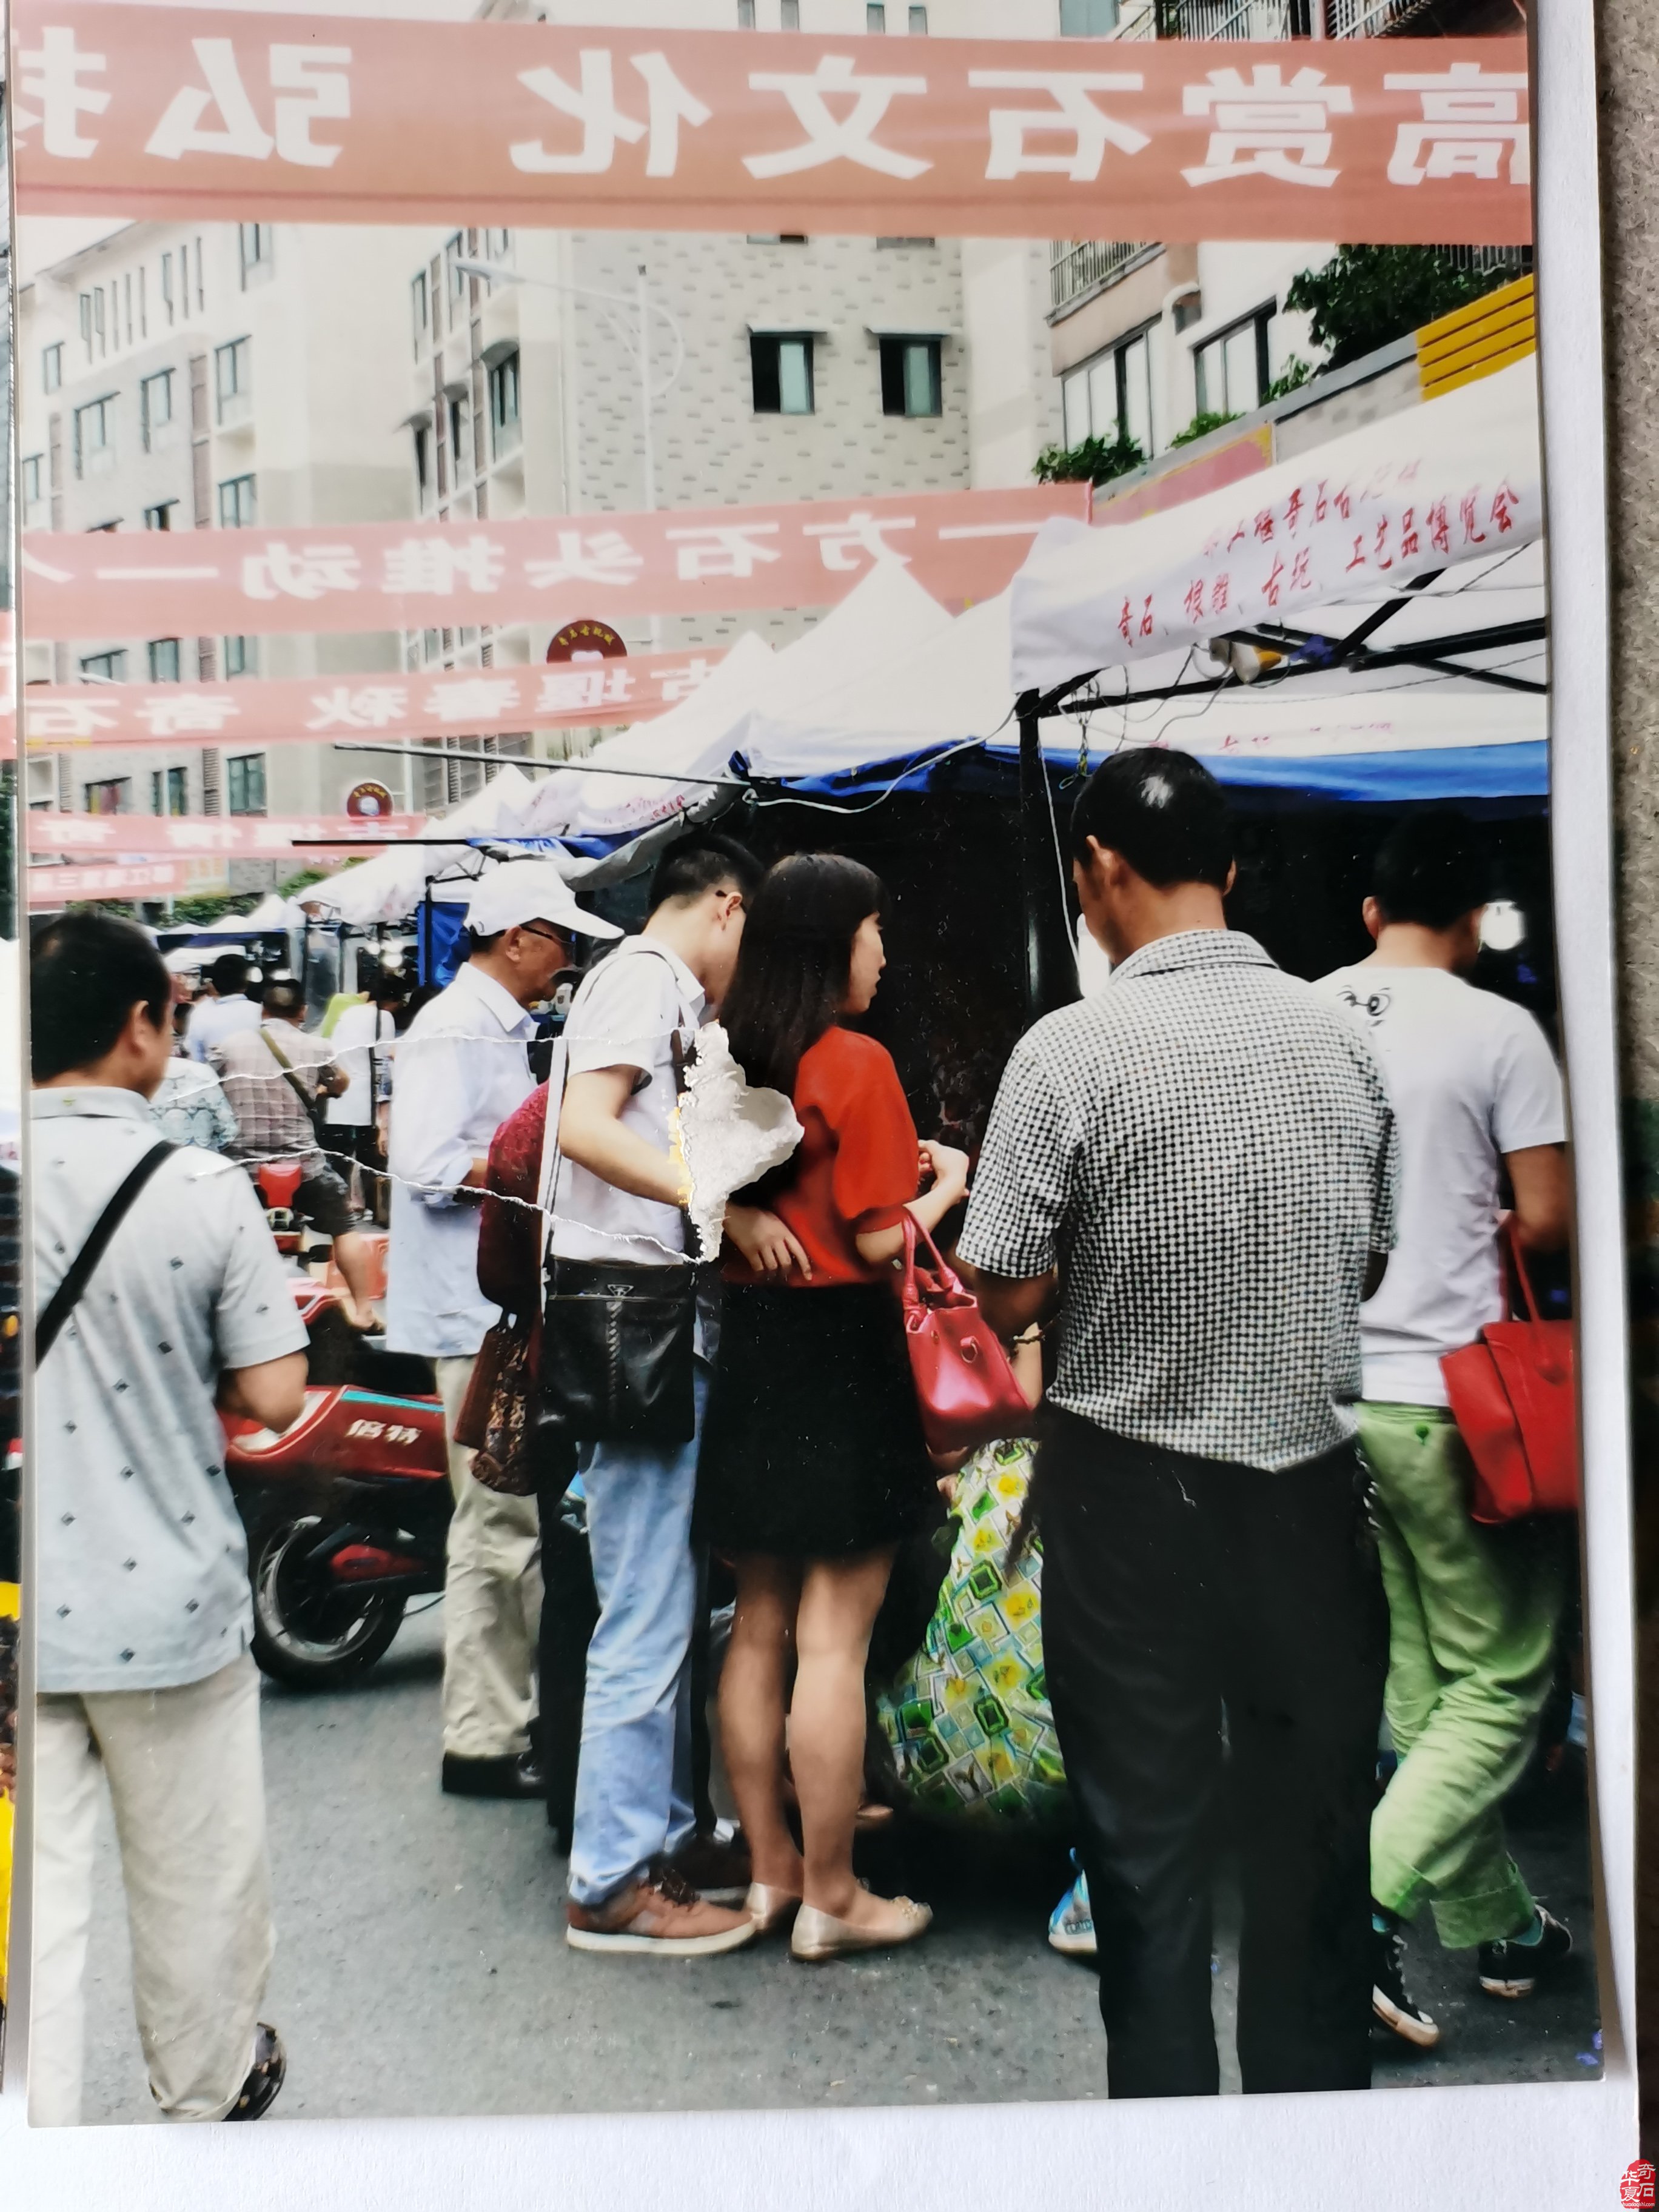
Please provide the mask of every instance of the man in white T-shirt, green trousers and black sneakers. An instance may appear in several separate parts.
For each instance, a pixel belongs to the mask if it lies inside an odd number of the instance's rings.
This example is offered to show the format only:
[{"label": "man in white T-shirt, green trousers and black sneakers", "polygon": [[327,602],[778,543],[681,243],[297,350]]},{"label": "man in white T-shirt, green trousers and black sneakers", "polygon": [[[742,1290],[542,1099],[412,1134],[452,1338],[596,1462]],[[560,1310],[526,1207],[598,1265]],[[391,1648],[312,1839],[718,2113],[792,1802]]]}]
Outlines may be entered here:
[{"label": "man in white T-shirt, green trousers and black sneakers", "polygon": [[1480,1947],[1489,1995],[1528,1995],[1571,1951],[1502,1825],[1555,1670],[1559,1531],[1469,1520],[1469,1455],[1440,1374],[1447,1352],[1506,1314],[1502,1181],[1531,1252],[1566,1241],[1571,1183],[1542,1029],[1464,982],[1489,896],[1480,834],[1460,816],[1407,816],[1371,885],[1376,951],[1316,989],[1367,1033],[1400,1128],[1400,1241],[1360,1312],[1360,1447],[1376,1480],[1400,1761],[1371,1820],[1371,2004],[1429,2046],[1440,2031],[1405,1989],[1400,1938],[1425,1900],[1447,1949]]}]

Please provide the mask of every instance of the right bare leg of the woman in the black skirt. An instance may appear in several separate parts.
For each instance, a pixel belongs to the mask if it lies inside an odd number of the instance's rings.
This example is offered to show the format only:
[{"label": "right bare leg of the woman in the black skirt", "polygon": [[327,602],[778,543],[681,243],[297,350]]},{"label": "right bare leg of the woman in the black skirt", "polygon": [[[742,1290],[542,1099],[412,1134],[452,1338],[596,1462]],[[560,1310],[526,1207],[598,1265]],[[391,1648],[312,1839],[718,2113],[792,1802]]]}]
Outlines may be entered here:
[{"label": "right bare leg of the woman in the black skirt", "polygon": [[891,1546],[856,1559],[807,1559],[796,1613],[790,1772],[801,1798],[803,1896],[860,1927],[891,1911],[852,1871],[852,1829],[865,1790],[865,1659],[891,1566]]}]

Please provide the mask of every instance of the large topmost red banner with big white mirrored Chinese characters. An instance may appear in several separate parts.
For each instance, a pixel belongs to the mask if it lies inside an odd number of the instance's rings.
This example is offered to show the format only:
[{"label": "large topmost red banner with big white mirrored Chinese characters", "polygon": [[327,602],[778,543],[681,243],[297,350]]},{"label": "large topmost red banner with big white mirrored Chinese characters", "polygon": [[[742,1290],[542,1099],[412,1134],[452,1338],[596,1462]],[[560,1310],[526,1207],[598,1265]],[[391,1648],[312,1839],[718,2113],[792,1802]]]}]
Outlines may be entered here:
[{"label": "large topmost red banner with big white mirrored Chinese characters", "polygon": [[314,15],[20,0],[13,40],[24,215],[1531,239],[1524,38],[323,35]]}]

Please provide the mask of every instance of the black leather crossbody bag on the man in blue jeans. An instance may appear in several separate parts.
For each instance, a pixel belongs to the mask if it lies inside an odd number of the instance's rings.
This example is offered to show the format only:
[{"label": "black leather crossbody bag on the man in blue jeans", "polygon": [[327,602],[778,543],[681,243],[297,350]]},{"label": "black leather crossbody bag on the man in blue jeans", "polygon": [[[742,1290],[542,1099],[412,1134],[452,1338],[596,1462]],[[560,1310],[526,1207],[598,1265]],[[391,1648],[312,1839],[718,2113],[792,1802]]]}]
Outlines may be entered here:
[{"label": "black leather crossbody bag on the man in blue jeans", "polygon": [[[641,945],[639,958],[650,947]],[[661,953],[653,953],[661,958]],[[672,1042],[675,1093],[684,1091],[679,1022]],[[568,1055],[557,1097],[549,1093],[553,1170],[549,1210],[557,1201],[562,1155],[557,1115],[564,1106]],[[692,1354],[697,1338],[697,1267],[668,1261],[546,1256],[538,1431],[544,1444],[688,1444],[697,1433]]]}]

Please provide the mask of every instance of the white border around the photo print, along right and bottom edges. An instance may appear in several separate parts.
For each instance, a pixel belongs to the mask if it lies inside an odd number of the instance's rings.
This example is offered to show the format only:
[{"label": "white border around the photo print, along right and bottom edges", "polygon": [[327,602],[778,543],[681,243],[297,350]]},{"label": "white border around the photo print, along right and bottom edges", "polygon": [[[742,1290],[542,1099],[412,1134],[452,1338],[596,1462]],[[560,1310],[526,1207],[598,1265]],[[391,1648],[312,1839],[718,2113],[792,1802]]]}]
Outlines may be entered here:
[{"label": "white border around the photo print, along right and bottom edges", "polygon": [[[352,11],[343,11],[352,13]],[[1584,1582],[1604,2077],[1407,2093],[215,2128],[27,2126],[29,1752],[20,1697],[18,1893],[0,2201],[75,2212],[960,2212],[1033,2205],[1329,2212],[1489,2205],[1613,2212],[1637,2157],[1635,1577],[1619,1144],[1613,730],[1595,11],[1535,0],[1537,319],[1548,507],[1551,836],[1573,1104],[1586,1462]],[[15,420],[15,418],[13,418]],[[13,429],[15,436],[15,429]],[[15,482],[15,458],[13,458]],[[13,515],[15,533],[15,515]],[[15,564],[13,564],[15,573]],[[22,653],[18,655],[22,670]],[[27,1141],[27,1124],[24,1124]],[[24,1217],[27,1232],[27,1217]],[[31,1517],[24,1506],[24,1548]],[[549,2053],[549,2064],[555,2064]],[[1102,2051],[1102,2093],[1106,2086]]]}]

